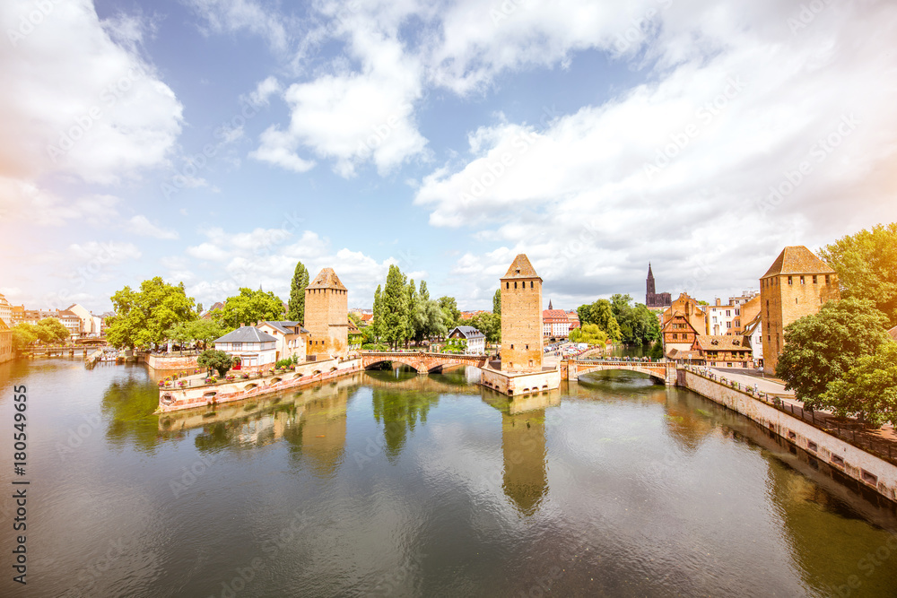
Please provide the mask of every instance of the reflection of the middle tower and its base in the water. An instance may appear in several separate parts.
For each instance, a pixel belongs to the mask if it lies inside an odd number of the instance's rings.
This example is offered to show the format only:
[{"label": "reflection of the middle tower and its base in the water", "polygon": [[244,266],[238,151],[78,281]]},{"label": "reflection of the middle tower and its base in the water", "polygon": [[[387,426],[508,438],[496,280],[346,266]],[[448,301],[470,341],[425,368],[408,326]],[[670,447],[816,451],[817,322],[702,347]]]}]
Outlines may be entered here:
[{"label": "reflection of the middle tower and its base in the water", "polygon": [[501,412],[501,487],[520,513],[532,516],[548,491],[545,410],[560,405],[561,394],[509,399],[494,391],[483,392],[483,402]]}]

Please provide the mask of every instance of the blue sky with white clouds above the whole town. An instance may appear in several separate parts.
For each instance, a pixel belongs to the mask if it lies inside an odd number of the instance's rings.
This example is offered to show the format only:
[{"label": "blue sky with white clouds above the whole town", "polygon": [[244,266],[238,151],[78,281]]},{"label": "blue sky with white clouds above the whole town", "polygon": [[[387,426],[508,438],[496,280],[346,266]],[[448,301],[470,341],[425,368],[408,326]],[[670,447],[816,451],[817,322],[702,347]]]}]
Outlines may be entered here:
[{"label": "blue sky with white clouds above the whole town", "polygon": [[897,221],[897,3],[4,0],[0,292],[757,289]]}]

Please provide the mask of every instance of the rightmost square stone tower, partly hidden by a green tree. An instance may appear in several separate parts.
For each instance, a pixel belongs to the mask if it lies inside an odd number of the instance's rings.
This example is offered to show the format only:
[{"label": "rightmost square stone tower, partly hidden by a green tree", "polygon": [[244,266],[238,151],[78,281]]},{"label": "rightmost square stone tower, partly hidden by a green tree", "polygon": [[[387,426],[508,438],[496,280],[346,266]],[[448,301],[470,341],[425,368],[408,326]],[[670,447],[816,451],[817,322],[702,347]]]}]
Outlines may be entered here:
[{"label": "rightmost square stone tower, partly hidden by a green tree", "polygon": [[838,274],[804,246],[785,247],[760,279],[763,370],[774,374],[785,347],[785,327],[840,299]]}]

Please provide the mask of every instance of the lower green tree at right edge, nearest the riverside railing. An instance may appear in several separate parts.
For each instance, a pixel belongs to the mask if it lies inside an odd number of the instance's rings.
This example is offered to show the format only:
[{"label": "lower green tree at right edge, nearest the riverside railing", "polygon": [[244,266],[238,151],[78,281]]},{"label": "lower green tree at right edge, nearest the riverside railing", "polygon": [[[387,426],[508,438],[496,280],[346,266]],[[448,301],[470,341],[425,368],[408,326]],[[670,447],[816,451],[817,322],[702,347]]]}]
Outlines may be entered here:
[{"label": "lower green tree at right edge, nearest the riverside railing", "polygon": [[897,342],[882,342],[875,353],[860,357],[829,383],[820,401],[835,415],[856,413],[875,426],[897,422]]}]

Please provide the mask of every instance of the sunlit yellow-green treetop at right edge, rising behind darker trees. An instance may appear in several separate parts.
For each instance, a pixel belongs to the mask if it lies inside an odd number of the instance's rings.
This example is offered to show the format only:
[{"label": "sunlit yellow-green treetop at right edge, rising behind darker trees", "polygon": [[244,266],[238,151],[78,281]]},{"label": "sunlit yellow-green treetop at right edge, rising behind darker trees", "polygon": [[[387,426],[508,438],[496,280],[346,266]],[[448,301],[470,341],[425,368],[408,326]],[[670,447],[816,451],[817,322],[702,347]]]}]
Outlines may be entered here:
[{"label": "sunlit yellow-green treetop at right edge, rising behind darker trees", "polygon": [[897,222],[840,238],[819,251],[838,273],[844,299],[867,299],[897,324]]}]

